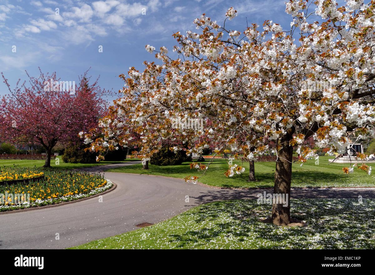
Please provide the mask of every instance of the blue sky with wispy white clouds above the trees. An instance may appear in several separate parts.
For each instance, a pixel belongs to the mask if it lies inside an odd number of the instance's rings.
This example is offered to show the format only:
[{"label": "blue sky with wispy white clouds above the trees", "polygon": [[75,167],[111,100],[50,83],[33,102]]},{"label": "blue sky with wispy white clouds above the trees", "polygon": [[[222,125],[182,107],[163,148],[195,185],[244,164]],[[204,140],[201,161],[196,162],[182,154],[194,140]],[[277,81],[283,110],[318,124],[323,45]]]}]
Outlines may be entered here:
[{"label": "blue sky with wispy white clouds above the trees", "polygon": [[[192,22],[202,13],[222,25],[226,10],[233,6],[238,16],[226,23],[228,29],[244,30],[246,18],[249,24],[273,20],[289,29],[291,17],[285,14],[284,2],[0,0],[0,71],[14,87],[18,78],[27,80],[25,70],[37,77],[38,66],[76,83],[91,67],[89,74],[95,79],[100,75],[102,88],[117,91],[124,84],[118,75],[130,66],[142,70],[144,60],[154,61],[145,45],[165,46],[172,55],[172,34],[197,31]],[[1,81],[0,95],[5,93]]]}]

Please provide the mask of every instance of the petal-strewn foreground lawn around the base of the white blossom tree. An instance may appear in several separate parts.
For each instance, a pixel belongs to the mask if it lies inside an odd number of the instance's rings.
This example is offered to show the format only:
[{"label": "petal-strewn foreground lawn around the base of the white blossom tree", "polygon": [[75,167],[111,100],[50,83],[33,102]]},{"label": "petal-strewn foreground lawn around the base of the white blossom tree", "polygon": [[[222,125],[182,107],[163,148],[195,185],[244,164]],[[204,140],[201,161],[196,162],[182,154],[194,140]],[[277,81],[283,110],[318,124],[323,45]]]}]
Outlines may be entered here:
[{"label": "petal-strewn foreground lawn around the base of the white blossom tree", "polygon": [[76,246],[76,249],[374,249],[375,200],[293,199],[303,227],[260,219],[272,206],[257,200],[221,201],[190,209],[150,227]]}]

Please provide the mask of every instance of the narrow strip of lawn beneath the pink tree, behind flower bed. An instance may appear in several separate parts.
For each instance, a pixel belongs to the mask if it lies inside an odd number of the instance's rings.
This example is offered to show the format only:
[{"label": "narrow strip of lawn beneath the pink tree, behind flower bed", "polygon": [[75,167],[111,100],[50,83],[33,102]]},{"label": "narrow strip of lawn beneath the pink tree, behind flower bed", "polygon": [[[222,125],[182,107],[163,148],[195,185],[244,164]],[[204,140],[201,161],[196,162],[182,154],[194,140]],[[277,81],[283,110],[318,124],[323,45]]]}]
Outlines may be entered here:
[{"label": "narrow strip of lawn beneath the pink tree, behind flower bed", "polygon": [[[101,161],[98,163],[70,163],[64,162],[62,156],[59,156],[60,162],[59,165],[56,165],[55,158],[51,158],[51,167],[52,168],[62,168],[62,169],[79,169],[84,167],[94,167],[99,165],[107,164],[116,164],[121,162],[133,161],[134,159],[126,159],[124,161]],[[0,159],[1,165],[19,165],[22,167],[42,167],[44,165],[44,160],[24,160],[24,159]]]}]

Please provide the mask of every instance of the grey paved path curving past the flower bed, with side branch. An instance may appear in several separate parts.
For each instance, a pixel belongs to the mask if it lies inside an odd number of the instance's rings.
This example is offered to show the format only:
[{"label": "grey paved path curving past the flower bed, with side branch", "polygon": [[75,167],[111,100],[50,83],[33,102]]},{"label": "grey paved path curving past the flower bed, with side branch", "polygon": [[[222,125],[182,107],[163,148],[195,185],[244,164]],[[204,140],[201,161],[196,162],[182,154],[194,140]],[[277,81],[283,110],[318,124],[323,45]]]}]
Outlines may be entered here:
[{"label": "grey paved path curving past the flower bed, with side branch", "polygon": [[[84,169],[104,169],[137,162]],[[139,162],[138,162],[139,163]],[[58,207],[0,215],[0,248],[68,248],[156,223],[190,207],[215,200],[257,198],[263,190],[225,190],[184,180],[126,173],[105,173],[117,188],[98,197]],[[267,192],[270,192],[269,190]],[[375,198],[375,189],[294,189],[293,198]],[[186,196],[189,196],[187,202]],[[59,239],[57,239],[57,234]]]}]

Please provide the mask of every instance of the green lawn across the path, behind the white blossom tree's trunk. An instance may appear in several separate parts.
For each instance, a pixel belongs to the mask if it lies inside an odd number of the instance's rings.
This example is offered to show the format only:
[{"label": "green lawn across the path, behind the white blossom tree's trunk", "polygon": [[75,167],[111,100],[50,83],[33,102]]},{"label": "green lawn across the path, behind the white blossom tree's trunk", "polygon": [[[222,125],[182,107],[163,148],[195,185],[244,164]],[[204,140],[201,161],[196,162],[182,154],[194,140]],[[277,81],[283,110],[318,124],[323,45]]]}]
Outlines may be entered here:
[{"label": "green lawn across the path, behind the white blossom tree's trunk", "polygon": [[[364,171],[354,169],[354,173],[345,175],[342,167],[349,164],[328,164],[328,159],[332,157],[319,157],[319,165],[315,165],[315,159],[308,160],[300,166],[298,163],[292,164],[292,187],[368,187],[375,186],[374,174],[368,175]],[[228,163],[224,159],[216,159],[210,165],[205,175],[198,181],[212,186],[246,188],[246,187],[273,187],[275,179],[275,162],[256,162],[255,176],[256,182],[247,182],[249,173],[248,162],[236,162],[246,168],[245,173],[225,177],[224,172],[228,169]],[[163,175],[168,177],[184,178],[188,175],[200,176],[202,173],[196,169],[190,170],[190,163],[184,162],[181,165],[157,166],[149,165],[149,170],[142,170],[141,164],[124,166],[109,169],[109,172],[123,172],[135,174]],[[204,164],[208,164],[207,158]]]}]

